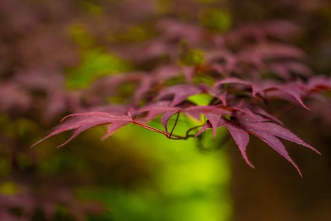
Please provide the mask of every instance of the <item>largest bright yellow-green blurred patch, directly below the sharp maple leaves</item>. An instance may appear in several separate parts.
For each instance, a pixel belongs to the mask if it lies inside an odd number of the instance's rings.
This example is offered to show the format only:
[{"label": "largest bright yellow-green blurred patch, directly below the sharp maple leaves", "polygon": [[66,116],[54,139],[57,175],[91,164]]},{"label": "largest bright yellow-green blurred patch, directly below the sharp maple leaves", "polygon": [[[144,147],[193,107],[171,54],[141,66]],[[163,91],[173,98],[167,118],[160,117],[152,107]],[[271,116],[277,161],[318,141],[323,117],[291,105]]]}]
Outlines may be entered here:
[{"label": "largest bright yellow-green blurred patch, directly below the sharp maple leaves", "polygon": [[[185,131],[181,119],[178,124],[176,133]],[[83,198],[106,204],[108,212],[104,220],[230,220],[230,171],[226,153],[203,154],[196,148],[194,139],[168,140],[137,126],[114,134],[115,140],[123,142],[128,142],[128,137],[132,148],[149,155],[157,165],[152,176],[133,189],[110,186],[79,191]]]}]

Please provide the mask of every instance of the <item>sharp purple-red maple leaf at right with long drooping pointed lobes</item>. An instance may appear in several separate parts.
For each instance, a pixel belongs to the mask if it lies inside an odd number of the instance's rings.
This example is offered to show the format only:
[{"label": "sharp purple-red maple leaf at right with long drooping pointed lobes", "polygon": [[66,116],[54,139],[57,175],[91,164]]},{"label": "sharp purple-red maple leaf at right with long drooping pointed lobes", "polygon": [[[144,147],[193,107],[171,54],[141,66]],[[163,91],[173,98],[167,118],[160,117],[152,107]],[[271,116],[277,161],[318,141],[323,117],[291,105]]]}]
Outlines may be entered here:
[{"label": "sharp purple-red maple leaf at right with long drooping pointed lobes", "polygon": [[[227,108],[228,110],[230,109],[229,107]],[[196,133],[194,137],[199,136],[203,131],[210,128],[212,129],[214,137],[217,128],[225,126],[228,129],[234,142],[237,144],[239,151],[243,156],[243,159],[252,168],[254,168],[254,165],[250,162],[250,160],[248,160],[248,156],[246,154],[246,148],[250,140],[250,135],[258,137],[260,140],[265,142],[265,144],[268,144],[268,146],[273,148],[275,151],[277,151],[277,153],[279,153],[282,157],[288,160],[288,162],[290,162],[294,166],[294,168],[297,169],[300,176],[302,176],[302,173],[299,167],[292,160],[292,158],[288,154],[288,151],[286,151],[285,146],[283,145],[281,140],[279,140],[279,138],[300,144],[302,146],[310,148],[316,153],[319,153],[316,148],[301,140],[301,138],[292,133],[292,131],[290,131],[288,128],[285,128],[274,122],[270,122],[273,121],[274,117],[266,114],[259,108],[253,108],[252,110],[250,110],[248,106],[239,104],[236,108],[232,109],[232,117],[230,120],[222,117],[221,111],[217,109],[217,106],[199,106],[199,108],[195,106],[188,109],[188,113],[192,112],[192,110],[199,110],[208,119],[208,121],[201,127],[201,129]],[[223,110],[226,110],[226,108],[223,107]],[[257,113],[254,113],[253,110],[257,111]],[[279,121],[277,120],[276,122]]]}]

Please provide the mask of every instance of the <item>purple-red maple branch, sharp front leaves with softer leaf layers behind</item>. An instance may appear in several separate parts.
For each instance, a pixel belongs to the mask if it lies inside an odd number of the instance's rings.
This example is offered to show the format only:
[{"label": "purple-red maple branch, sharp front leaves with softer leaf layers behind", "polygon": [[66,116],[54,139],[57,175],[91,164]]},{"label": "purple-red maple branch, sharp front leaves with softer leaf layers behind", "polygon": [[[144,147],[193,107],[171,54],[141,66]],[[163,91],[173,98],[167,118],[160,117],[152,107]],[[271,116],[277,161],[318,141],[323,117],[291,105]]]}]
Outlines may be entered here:
[{"label": "purple-red maple branch, sharp front leaves with softer leaf layers behind", "polygon": [[[90,88],[95,86],[104,90],[104,97],[112,97],[121,96],[117,90],[131,84],[134,89],[128,92],[130,99],[123,100],[117,111],[112,111],[110,104],[103,106],[107,111],[68,115],[43,140],[74,130],[70,139],[60,145],[63,146],[83,131],[105,124],[110,125],[103,139],[126,124],[137,124],[174,140],[197,137],[207,129],[212,129],[215,136],[217,128],[225,126],[250,166],[254,167],[245,151],[250,135],[254,135],[288,160],[301,175],[279,138],[319,151],[285,128],[270,111],[269,103],[281,99],[309,110],[304,100],[321,90],[330,90],[331,79],[312,75],[304,64],[303,51],[282,42],[297,27],[286,21],[273,21],[219,34],[176,19],[163,19],[158,24],[163,33],[137,50],[143,54],[139,62],[162,56],[167,61],[152,70],[104,77]],[[286,27],[287,32],[274,32],[274,26]],[[248,39],[250,42],[246,43]],[[183,44],[183,51],[177,50],[178,44]],[[194,95],[208,95],[208,104],[191,101]],[[148,125],[160,115],[163,130]],[[174,131],[179,115],[191,117],[201,126],[177,135]],[[172,117],[175,122],[169,130]]]}]

